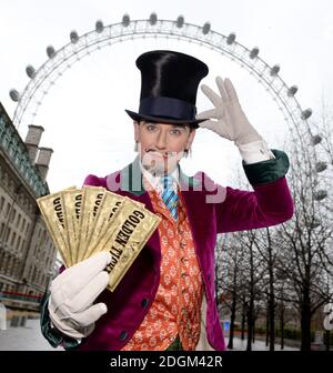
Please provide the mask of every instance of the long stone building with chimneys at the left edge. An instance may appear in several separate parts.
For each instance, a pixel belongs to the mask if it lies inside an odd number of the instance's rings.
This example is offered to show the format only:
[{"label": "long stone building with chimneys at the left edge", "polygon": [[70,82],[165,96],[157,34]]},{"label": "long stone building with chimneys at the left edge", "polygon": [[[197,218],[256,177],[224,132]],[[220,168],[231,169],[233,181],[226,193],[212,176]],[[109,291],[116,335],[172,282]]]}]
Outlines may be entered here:
[{"label": "long stone building with chimneys at the left edge", "polygon": [[29,125],[22,141],[0,103],[0,301],[13,309],[38,310],[59,265],[36,202],[50,193],[52,149],[39,148],[42,132]]}]

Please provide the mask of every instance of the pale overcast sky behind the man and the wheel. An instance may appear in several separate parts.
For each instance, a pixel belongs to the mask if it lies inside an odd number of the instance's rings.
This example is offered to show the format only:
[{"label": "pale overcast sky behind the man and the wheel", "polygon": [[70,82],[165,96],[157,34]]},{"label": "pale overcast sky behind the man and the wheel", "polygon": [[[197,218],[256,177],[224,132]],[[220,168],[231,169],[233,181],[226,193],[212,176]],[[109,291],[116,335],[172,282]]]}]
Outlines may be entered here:
[{"label": "pale overcast sky behind the man and the wheel", "polygon": [[[36,69],[47,61],[46,48],[56,50],[69,42],[69,33],[94,29],[97,20],[118,23],[124,13],[131,20],[159,19],[202,26],[228,36],[251,49],[270,65],[281,65],[287,85],[299,85],[303,109],[320,109],[321,100],[332,98],[333,4],[330,0],[233,0],[233,1],[104,1],[104,0],[1,0],[0,3],[0,101],[12,117],[16,103],[9,90],[22,91],[29,82],[26,65]],[[68,70],[42,102],[33,124],[44,128],[40,145],[54,153],[48,175],[51,192],[81,185],[89,173],[107,175],[130,162],[133,152],[132,121],[124,109],[138,110],[140,72],[138,56],[150,49],[173,49],[202,59],[210,68],[202,81],[216,90],[216,74],[234,82],[240,101],[252,124],[271,148],[282,148],[286,123],[271,97],[234,62],[204,47],[181,41],[134,40],[102,49]],[[198,111],[212,108],[201,91]],[[24,139],[27,125],[19,128]],[[193,157],[182,161],[186,173],[203,170],[222,184],[234,182],[234,164],[240,164],[232,143],[208,130],[198,130]]]}]

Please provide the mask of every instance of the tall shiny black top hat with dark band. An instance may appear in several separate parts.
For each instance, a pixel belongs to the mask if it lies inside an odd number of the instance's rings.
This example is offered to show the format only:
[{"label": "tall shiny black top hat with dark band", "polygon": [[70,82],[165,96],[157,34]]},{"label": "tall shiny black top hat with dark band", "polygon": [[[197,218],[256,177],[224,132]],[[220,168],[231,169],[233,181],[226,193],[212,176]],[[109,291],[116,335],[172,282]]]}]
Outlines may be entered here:
[{"label": "tall shiny black top hat with dark band", "polygon": [[208,72],[208,65],[192,56],[175,51],[155,50],[137,59],[141,71],[139,113],[125,112],[134,120],[190,124],[205,119],[195,119],[198,85]]}]

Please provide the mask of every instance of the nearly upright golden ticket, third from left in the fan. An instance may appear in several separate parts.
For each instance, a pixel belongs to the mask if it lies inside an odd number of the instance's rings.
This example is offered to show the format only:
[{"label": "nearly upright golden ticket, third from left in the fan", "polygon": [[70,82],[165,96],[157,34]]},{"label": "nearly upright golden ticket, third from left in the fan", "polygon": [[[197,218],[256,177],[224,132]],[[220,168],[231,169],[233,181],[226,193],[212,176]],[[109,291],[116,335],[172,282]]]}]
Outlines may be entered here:
[{"label": "nearly upright golden ticket, third from left in the fan", "polygon": [[77,262],[82,261],[89,248],[89,241],[94,230],[94,224],[103,205],[105,189],[102,186],[83,186],[84,201],[82,205],[82,218],[80,225],[80,239],[78,245]]}]

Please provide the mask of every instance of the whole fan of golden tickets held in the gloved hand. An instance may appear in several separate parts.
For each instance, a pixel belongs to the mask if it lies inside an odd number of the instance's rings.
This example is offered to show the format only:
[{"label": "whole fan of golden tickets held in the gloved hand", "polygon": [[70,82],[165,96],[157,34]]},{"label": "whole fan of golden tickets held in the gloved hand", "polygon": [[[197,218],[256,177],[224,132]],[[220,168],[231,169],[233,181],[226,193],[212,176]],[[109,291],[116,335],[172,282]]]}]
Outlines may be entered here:
[{"label": "whole fan of golden tickets held in the gloved hand", "polygon": [[100,186],[70,186],[37,203],[67,268],[100,251],[110,252],[111,291],[161,222],[142,203]]}]

